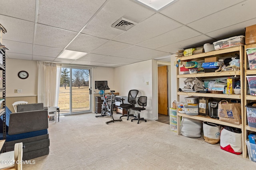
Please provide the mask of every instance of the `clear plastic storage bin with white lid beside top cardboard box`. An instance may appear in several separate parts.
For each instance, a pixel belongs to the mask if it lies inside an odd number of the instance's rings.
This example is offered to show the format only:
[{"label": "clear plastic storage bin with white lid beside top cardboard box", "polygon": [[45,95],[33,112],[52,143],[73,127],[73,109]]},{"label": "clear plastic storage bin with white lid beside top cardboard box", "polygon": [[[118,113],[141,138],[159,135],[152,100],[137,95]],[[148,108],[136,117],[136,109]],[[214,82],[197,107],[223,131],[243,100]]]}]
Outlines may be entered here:
[{"label": "clear plastic storage bin with white lid beside top cardboard box", "polygon": [[213,43],[213,45],[215,50],[226,49],[230,47],[244,45],[244,40],[245,37],[243,35],[240,35],[216,41]]}]

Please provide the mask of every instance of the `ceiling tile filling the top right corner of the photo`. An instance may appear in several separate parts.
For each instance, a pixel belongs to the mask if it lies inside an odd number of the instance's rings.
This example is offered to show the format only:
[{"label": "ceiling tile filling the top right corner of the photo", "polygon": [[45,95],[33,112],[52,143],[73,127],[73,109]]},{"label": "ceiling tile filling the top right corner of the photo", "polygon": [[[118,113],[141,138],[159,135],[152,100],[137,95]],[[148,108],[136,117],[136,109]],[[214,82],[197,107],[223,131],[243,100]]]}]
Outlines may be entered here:
[{"label": "ceiling tile filling the top right corner of the photo", "polygon": [[[256,18],[255,0],[247,0],[200,20],[189,23],[188,26],[202,33],[209,33],[230,25]],[[207,24],[206,24],[207,23]]]}]

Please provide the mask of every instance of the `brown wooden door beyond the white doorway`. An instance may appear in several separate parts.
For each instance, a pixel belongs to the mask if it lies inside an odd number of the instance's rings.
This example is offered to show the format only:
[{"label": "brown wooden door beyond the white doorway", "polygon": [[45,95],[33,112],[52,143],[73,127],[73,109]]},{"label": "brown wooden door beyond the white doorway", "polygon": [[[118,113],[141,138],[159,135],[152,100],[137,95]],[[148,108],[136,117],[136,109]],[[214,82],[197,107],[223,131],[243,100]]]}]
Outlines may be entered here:
[{"label": "brown wooden door beyond the white doorway", "polygon": [[167,66],[158,67],[158,114],[168,115]]}]

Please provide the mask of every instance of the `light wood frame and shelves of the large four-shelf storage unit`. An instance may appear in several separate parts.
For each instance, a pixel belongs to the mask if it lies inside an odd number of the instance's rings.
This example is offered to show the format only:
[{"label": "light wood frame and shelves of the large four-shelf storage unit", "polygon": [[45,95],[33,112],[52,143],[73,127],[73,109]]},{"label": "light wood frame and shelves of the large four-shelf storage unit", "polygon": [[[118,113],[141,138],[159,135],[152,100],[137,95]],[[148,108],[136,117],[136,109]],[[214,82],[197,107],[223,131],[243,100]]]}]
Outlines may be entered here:
[{"label": "light wood frame and shelves of the large four-shelf storage unit", "polygon": [[[244,63],[244,46],[237,46],[232,47],[228,49],[220,49],[217,51],[210,51],[207,53],[201,53],[198,55],[191,55],[186,57],[178,57],[177,63],[180,61],[186,61],[186,60],[192,60],[192,61],[202,61],[205,58],[208,57],[229,57],[233,56],[235,53],[238,53],[240,55],[240,63]],[[234,56],[235,57],[235,56]],[[180,78],[224,78],[224,77],[239,77],[240,78],[240,87],[241,87],[241,94],[214,94],[214,93],[197,93],[197,92],[179,92],[177,90],[177,100],[180,101],[180,97],[186,97],[186,96],[199,96],[199,97],[212,97],[212,98],[226,98],[226,99],[238,99],[241,100],[241,106],[244,106],[244,66],[243,64],[240,64],[240,70],[236,71],[222,71],[222,72],[207,72],[207,73],[196,73],[196,74],[179,74],[180,68],[177,67],[177,87],[181,88],[184,86],[183,84],[180,86]],[[217,123],[220,125],[226,125],[230,127],[236,127],[242,130],[242,133],[244,133],[244,127],[245,127],[245,116],[244,116],[244,107],[241,108],[241,114],[242,114],[242,123],[241,124],[234,124],[234,123],[228,123],[224,121],[220,121],[218,119],[211,118],[210,116],[202,116],[202,115],[186,115],[185,113],[179,113],[177,112],[177,133],[180,135],[180,122],[182,117],[189,117],[196,120],[201,121],[208,121],[212,123]],[[247,128],[247,127],[246,127]],[[242,134],[242,141],[244,141],[245,135]],[[246,149],[246,144],[243,143],[243,156]]]}]

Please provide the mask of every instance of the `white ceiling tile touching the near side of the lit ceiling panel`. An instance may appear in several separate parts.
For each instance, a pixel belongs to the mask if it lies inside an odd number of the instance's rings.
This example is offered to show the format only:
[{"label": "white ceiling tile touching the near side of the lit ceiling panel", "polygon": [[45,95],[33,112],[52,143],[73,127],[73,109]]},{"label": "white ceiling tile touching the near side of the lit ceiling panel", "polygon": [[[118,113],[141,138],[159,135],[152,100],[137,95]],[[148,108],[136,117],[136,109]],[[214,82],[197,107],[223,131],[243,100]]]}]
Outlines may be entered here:
[{"label": "white ceiling tile touching the near side of the lit ceiling panel", "polygon": [[68,45],[66,49],[74,51],[82,51],[89,53],[90,51],[96,49],[100,45],[106,43],[107,39],[92,37],[90,35],[79,34],[76,39]]}]

